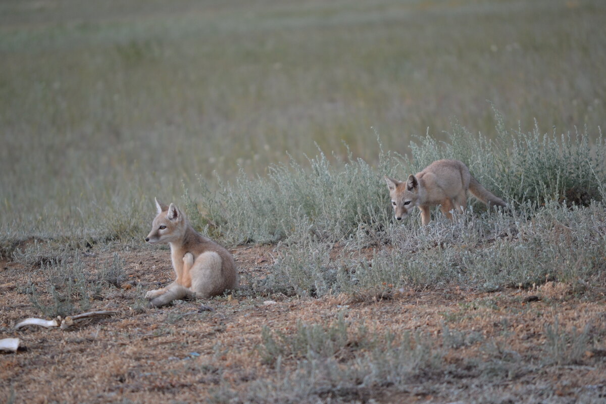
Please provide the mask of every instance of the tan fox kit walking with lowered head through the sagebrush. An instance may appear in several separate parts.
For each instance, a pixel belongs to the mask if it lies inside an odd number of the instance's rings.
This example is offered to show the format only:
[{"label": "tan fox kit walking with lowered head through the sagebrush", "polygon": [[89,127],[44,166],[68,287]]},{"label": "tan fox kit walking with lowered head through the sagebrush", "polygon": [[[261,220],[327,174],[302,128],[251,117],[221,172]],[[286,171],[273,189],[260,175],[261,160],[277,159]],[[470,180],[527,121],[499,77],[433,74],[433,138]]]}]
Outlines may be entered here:
[{"label": "tan fox kit walking with lowered head through the sagebrush", "polygon": [[438,160],[417,173],[410,174],[406,182],[385,176],[391,196],[391,205],[396,219],[408,216],[413,207],[421,209],[421,223],[430,220],[429,208],[441,205],[442,213],[452,219],[451,210],[462,212],[467,206],[467,190],[488,205],[507,207],[505,202],[494,196],[469,173],[469,168],[458,160]]}]

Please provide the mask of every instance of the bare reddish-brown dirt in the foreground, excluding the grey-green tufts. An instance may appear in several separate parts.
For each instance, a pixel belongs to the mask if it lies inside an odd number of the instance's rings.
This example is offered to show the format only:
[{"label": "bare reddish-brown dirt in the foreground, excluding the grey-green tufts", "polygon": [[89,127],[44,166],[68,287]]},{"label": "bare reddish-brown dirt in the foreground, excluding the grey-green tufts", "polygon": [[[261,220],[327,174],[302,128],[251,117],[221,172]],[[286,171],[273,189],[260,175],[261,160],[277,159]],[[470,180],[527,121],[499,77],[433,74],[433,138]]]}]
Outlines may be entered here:
[{"label": "bare reddish-brown dirt in the foreground, excluding the grey-green tufts", "polygon": [[[273,262],[272,249],[233,250],[244,289],[251,280],[267,274]],[[510,352],[519,355],[521,363],[519,371],[512,373],[510,369],[510,374],[494,386],[504,397],[501,402],[517,402],[515,397],[525,391],[536,394],[538,388],[543,402],[573,403],[588,392],[595,402],[606,402],[606,351],[602,339],[606,330],[606,297],[602,290],[574,294],[562,283],[496,293],[453,287],[397,290],[387,300],[344,295],[299,299],[250,293],[205,302],[180,301],[145,310],[136,305],[144,291],[155,288],[158,282],[169,282],[173,276],[168,251],[117,252],[125,260],[129,282],[121,288],[104,290],[92,309],[116,310],[119,314],[88,320],[68,330],[29,326],[15,331],[13,327],[19,320],[42,317],[24,293],[25,276],[33,271],[14,262],[0,263],[0,338],[19,337],[24,347],[17,353],[0,354],[0,400],[14,397],[18,403],[208,402],[215,396],[220,402],[217,391],[225,383],[245,392],[256,380],[279,376],[273,365],[262,360],[262,326],[288,335],[295,332],[300,321],[330,323],[343,313],[347,322],[364,322],[369,333],[421,331],[422,335],[439,340],[447,324],[450,329],[480,335],[483,341],[447,349],[444,362],[449,369],[457,369],[454,376],[448,371],[427,380],[416,377],[407,388],[389,383],[371,386],[349,398],[341,397],[343,401],[453,402],[445,393],[445,385],[458,391],[456,397],[461,397],[461,392],[472,394],[481,389],[478,383],[483,379],[468,371],[468,359],[482,361],[487,356],[482,346],[492,341],[497,350],[500,346],[507,348],[502,349],[504,356]],[[94,253],[90,265],[93,259],[111,256],[112,251]],[[202,305],[212,311],[202,310]],[[596,344],[574,364],[533,366],[545,356],[545,327],[553,324],[556,317],[562,332],[572,333],[573,329],[582,330],[590,324]],[[292,371],[295,365],[296,358],[287,357],[281,372]],[[438,385],[442,387],[436,388]]]}]

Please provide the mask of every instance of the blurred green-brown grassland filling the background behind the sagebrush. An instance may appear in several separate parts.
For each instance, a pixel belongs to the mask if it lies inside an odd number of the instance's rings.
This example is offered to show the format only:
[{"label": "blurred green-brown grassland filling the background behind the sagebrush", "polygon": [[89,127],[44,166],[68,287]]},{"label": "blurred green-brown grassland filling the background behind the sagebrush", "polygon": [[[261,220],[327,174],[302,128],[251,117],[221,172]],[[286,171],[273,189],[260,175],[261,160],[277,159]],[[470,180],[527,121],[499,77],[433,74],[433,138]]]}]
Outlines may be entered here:
[{"label": "blurred green-brown grassland filling the background behind the sagebrush", "polygon": [[128,233],[198,174],[343,141],[373,164],[375,130],[399,153],[453,117],[496,136],[487,100],[597,134],[605,22],[602,0],[2,1],[2,231]]}]

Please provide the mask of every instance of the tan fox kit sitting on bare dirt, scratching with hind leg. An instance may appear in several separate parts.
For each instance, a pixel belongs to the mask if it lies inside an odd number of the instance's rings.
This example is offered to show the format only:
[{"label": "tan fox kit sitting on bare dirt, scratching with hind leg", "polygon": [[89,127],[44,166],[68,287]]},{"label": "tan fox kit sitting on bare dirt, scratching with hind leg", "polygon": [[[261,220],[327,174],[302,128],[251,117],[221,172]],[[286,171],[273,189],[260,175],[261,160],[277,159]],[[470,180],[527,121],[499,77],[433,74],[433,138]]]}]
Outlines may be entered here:
[{"label": "tan fox kit sitting on bare dirt, scratching with hind leg", "polygon": [[159,307],[183,297],[207,298],[238,287],[238,273],[233,256],[213,240],[196,233],[184,214],[174,205],[158,202],[158,216],[145,237],[150,244],[169,243],[175,282],[145,297]]}]

